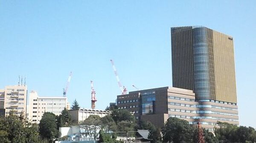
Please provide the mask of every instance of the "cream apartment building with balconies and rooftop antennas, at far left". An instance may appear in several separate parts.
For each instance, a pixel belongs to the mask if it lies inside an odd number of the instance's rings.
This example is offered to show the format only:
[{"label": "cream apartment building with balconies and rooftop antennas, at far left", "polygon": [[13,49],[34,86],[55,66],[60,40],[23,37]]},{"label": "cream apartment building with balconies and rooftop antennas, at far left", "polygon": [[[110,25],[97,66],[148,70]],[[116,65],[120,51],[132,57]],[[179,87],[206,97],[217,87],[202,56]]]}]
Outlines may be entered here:
[{"label": "cream apartment building with balconies and rooftop antennas, at far left", "polygon": [[[15,115],[21,113],[26,116],[26,85],[6,86],[0,89],[0,115],[9,115],[13,111]],[[25,117],[26,118],[26,117]]]}]

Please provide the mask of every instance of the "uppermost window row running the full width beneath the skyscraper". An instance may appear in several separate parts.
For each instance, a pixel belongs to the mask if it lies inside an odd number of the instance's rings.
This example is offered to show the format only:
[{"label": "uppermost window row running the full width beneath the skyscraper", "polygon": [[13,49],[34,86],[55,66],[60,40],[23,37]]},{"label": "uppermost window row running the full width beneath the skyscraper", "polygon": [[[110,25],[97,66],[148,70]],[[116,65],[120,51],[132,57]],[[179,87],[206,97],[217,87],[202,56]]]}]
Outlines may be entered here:
[{"label": "uppermost window row running the full width beneath the skyscraper", "polygon": [[217,109],[226,109],[226,110],[237,110],[236,108],[215,106],[215,105],[192,105],[192,104],[184,104],[184,103],[176,103],[176,102],[168,102],[169,105],[176,106],[185,106],[185,107],[196,107],[196,108],[217,108]]}]

